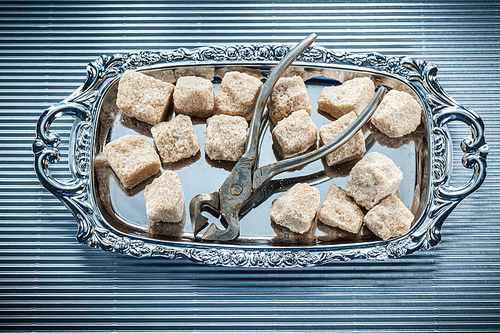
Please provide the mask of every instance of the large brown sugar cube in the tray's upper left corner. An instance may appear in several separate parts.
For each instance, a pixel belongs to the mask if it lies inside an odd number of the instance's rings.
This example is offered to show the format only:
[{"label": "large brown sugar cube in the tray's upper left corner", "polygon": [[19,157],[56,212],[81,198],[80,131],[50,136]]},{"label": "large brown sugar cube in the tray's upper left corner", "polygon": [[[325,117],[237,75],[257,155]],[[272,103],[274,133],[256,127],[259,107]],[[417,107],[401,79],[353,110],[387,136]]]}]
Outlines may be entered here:
[{"label": "large brown sugar cube in the tray's upper left corner", "polygon": [[118,82],[116,105],[127,116],[156,125],[165,118],[173,91],[171,83],[125,71]]}]

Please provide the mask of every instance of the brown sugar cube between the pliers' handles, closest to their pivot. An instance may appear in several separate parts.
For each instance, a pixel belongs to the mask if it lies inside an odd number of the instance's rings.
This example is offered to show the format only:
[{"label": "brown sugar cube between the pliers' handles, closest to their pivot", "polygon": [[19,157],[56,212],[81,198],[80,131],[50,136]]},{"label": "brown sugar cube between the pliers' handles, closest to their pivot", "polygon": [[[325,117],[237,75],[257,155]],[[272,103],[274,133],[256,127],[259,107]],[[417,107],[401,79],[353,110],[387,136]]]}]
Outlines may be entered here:
[{"label": "brown sugar cube between the pliers' handles, closest to their pivot", "polygon": [[295,111],[273,129],[273,140],[283,157],[305,152],[316,143],[317,137],[318,128],[305,110]]}]

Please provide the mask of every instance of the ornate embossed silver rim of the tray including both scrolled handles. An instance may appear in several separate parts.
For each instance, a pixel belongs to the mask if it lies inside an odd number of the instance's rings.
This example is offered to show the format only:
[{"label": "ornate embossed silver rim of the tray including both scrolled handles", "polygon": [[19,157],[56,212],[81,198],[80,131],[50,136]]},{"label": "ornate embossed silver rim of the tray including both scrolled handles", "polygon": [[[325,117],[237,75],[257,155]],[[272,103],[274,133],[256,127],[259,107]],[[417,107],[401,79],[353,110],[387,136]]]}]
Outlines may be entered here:
[{"label": "ornate embossed silver rim of the tray including both scrolled handles", "polygon": [[[195,262],[235,267],[302,267],[353,259],[387,260],[430,249],[441,240],[446,217],[465,197],[481,186],[486,177],[489,148],[484,124],[473,111],[455,102],[437,81],[437,67],[410,57],[379,53],[350,53],[312,46],[294,65],[320,66],[369,71],[391,76],[409,85],[425,102],[429,130],[429,200],[418,225],[405,236],[384,242],[332,246],[256,247],[198,242],[144,239],[125,234],[105,222],[94,199],[93,163],[95,131],[103,91],[127,69],[149,69],[179,65],[263,64],[279,61],[288,45],[226,45],[165,52],[141,51],[103,55],[87,66],[85,82],[63,101],[40,116],[33,143],[35,171],[42,185],[73,213],[78,222],[77,240],[88,246],[134,257],[185,258]],[[59,159],[59,135],[50,125],[61,114],[75,117],[70,144],[69,168],[73,179],[61,182],[52,177],[49,165]],[[464,167],[473,169],[472,178],[460,188],[448,185],[451,173],[451,139],[447,123],[458,120],[471,128],[461,141]]]}]

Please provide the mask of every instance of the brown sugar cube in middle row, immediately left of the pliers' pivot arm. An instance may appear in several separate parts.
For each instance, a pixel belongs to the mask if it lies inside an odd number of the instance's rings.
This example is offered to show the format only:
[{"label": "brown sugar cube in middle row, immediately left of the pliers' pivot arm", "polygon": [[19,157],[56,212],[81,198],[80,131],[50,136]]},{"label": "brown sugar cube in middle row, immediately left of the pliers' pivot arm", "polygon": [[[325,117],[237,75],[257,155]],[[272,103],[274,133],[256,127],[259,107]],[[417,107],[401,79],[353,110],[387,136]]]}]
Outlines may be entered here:
[{"label": "brown sugar cube in middle row, immediately left of the pliers' pivot arm", "polygon": [[247,128],[247,121],[240,116],[221,114],[208,118],[205,153],[212,160],[239,160],[245,152]]}]

